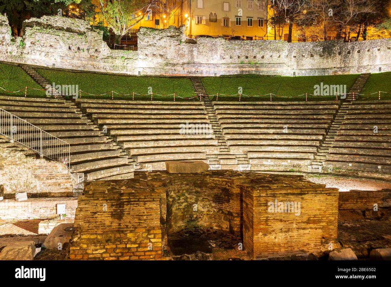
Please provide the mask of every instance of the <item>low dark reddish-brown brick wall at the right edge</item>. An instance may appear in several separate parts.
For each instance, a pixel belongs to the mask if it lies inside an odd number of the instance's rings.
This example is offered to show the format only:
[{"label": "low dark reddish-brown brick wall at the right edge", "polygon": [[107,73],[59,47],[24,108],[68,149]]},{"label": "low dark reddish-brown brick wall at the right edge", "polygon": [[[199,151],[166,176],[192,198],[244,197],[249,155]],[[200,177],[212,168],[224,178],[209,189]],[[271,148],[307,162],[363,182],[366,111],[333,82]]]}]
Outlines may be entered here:
[{"label": "low dark reddish-brown brick wall at the right edge", "polygon": [[391,207],[391,190],[351,190],[339,193],[338,209],[366,209],[377,204],[378,207]]}]

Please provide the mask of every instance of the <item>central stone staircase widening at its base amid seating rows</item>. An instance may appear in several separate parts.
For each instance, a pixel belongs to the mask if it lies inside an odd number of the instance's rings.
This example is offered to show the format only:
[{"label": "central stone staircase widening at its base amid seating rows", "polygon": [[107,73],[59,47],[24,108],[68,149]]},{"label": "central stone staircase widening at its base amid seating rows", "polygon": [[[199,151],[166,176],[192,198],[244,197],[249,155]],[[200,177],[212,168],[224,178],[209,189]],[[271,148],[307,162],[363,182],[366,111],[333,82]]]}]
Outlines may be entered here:
[{"label": "central stone staircase widening at its base amid seating rows", "polygon": [[[249,169],[249,159],[246,154],[231,154],[230,147],[227,144],[226,139],[221,130],[219,120],[217,119],[216,112],[213,108],[212,101],[208,96],[204,96],[206,91],[199,77],[190,77],[194,85],[195,92],[197,94],[202,94],[201,101],[203,101],[206,115],[208,116],[210,124],[212,124],[213,134],[217,139],[217,144],[219,145],[220,152],[219,154],[207,154],[206,157],[209,159],[209,165],[211,169],[220,169],[221,166],[232,167],[233,165],[239,165],[240,168],[244,170]],[[244,166],[241,166],[244,165]]]}]

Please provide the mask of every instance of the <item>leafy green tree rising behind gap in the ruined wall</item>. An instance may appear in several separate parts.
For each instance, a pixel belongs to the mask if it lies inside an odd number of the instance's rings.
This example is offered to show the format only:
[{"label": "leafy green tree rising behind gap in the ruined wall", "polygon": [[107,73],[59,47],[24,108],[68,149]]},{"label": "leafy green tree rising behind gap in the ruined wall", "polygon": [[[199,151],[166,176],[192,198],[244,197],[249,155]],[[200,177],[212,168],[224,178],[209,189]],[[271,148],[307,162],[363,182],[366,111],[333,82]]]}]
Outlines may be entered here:
[{"label": "leafy green tree rising behind gap in the ruined wall", "polygon": [[102,17],[114,33],[114,43],[152,11],[164,9],[160,0],[99,0]]}]

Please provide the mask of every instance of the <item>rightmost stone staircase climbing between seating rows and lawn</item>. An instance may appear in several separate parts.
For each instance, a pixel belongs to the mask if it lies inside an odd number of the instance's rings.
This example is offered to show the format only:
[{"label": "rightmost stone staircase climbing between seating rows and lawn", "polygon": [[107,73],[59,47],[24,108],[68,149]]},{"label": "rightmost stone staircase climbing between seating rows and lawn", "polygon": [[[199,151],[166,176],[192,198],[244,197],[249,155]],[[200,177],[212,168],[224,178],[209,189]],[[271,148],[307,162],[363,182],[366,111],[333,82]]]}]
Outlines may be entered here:
[{"label": "rightmost stone staircase climbing between seating rows and lawn", "polygon": [[[349,90],[349,93],[346,95],[346,99],[342,99],[342,104],[338,109],[333,122],[330,125],[326,133],[326,137],[323,140],[322,144],[319,146],[317,153],[314,156],[314,160],[311,163],[310,172],[322,172],[323,162],[326,160],[326,154],[328,154],[330,147],[334,142],[334,137],[337,135],[342,121],[347,114],[350,105],[353,101],[353,92],[358,94],[364,88],[365,83],[368,81],[370,73],[361,74],[353,83],[352,88]],[[357,100],[357,96],[354,96],[354,100]],[[328,168],[328,167],[326,167]]]}]

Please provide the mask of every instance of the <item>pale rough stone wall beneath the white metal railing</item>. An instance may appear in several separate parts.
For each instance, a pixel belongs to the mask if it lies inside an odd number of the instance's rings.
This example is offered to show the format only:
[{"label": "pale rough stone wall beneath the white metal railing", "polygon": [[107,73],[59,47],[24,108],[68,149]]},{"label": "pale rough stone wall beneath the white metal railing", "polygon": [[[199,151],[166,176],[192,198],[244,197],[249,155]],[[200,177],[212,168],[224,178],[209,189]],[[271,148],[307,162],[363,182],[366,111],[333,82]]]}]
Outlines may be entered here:
[{"label": "pale rough stone wall beneath the white metal railing", "polygon": [[4,198],[27,192],[28,197],[72,197],[73,179],[61,163],[26,157],[21,151],[0,147],[0,184]]}]

